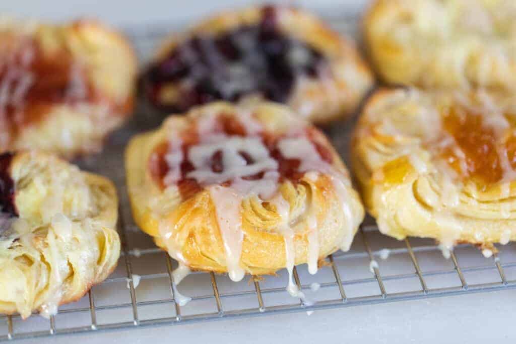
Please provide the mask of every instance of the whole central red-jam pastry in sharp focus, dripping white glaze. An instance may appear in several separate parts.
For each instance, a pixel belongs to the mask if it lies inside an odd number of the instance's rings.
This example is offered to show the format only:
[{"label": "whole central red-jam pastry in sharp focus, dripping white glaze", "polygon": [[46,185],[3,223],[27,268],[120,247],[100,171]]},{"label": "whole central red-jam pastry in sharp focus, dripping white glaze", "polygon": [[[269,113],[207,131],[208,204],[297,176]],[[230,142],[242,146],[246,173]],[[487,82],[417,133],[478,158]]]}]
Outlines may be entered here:
[{"label": "whole central red-jam pastry in sharp focus, dripping white glaze", "polygon": [[[133,216],[193,270],[291,273],[348,250],[364,210],[326,137],[275,103],[212,103],[126,150]],[[176,281],[177,283],[178,281]]]}]

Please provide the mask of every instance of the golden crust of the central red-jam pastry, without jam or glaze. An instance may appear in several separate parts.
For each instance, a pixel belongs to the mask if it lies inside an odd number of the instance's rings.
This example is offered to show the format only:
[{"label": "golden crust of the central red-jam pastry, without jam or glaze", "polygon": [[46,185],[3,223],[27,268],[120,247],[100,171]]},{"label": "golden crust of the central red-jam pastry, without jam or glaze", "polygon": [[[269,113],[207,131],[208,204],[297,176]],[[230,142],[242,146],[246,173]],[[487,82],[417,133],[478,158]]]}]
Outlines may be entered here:
[{"label": "golden crust of the central red-jam pastry, without jam or glaze", "polygon": [[[289,128],[306,123],[284,106],[273,103],[233,106],[229,103],[192,109],[182,116],[171,116],[161,128],[133,138],[125,152],[127,186],[133,217],[140,228],[153,236],[156,244],[189,268],[228,272],[224,241],[217,223],[217,211],[209,187],[202,187],[184,199],[176,185],[165,189],[156,182],[149,170],[149,161],[156,147],[167,142],[171,133],[180,132],[199,119],[223,113],[238,121],[240,113],[252,113],[267,135],[281,135]],[[312,128],[315,130],[314,128]],[[331,154],[332,168],[342,173],[346,186],[344,200],[349,207],[346,220],[331,176],[319,171],[318,177],[305,173],[298,182],[286,179],[279,185],[279,193],[289,204],[289,219],[293,223],[295,264],[306,263],[309,250],[307,214],[313,211],[318,223],[318,258],[344,247],[351,241],[363,219],[363,208],[358,194],[349,184],[347,171],[328,140],[315,130],[315,139]],[[176,135],[176,134],[173,134]],[[241,203],[244,238],[239,265],[245,272],[271,274],[286,266],[285,239],[279,230],[282,218],[278,208],[250,194]],[[347,222],[348,221],[348,222]],[[166,239],[164,239],[164,234]]]}]

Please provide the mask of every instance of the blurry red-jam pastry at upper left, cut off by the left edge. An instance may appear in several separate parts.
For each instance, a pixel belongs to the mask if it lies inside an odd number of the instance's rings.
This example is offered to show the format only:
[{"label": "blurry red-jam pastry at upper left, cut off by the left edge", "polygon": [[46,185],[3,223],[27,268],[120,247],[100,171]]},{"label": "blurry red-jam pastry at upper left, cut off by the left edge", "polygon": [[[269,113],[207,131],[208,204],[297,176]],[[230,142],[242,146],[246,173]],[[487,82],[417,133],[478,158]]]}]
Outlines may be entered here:
[{"label": "blurry red-jam pastry at upper left, cut off by the left edge", "polygon": [[99,23],[0,18],[0,152],[97,152],[133,107],[136,60]]}]

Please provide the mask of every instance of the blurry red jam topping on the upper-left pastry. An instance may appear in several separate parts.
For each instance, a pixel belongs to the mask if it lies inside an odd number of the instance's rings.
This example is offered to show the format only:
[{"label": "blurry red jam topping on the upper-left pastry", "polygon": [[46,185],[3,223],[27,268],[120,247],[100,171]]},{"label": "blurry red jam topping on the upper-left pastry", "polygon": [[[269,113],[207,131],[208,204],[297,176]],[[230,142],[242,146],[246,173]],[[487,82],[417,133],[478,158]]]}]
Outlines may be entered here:
[{"label": "blurry red jam topping on the upper-left pastry", "polygon": [[30,38],[0,52],[0,122],[10,133],[41,120],[49,106],[90,101],[84,68],[70,53],[45,54]]}]

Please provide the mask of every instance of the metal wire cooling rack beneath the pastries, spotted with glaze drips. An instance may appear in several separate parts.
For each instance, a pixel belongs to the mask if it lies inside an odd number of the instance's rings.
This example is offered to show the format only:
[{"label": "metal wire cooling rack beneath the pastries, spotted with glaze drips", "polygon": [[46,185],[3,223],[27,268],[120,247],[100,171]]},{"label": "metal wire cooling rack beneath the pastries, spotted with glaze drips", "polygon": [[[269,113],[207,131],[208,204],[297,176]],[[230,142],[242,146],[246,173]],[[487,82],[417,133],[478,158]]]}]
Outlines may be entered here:
[{"label": "metal wire cooling rack beneath the pastries, spotted with glaze drips", "polygon": [[[357,15],[329,18],[335,29],[353,35]],[[153,24],[132,28],[140,60],[144,61],[170,26]],[[192,273],[180,284],[181,293],[192,298],[185,306],[174,301],[169,256],[155,248],[131,217],[123,171],[123,149],[136,132],[159,125],[159,117],[140,102],[135,117],[111,136],[104,153],[82,161],[85,169],[110,177],[120,196],[119,233],[122,254],[115,272],[94,286],[81,300],[63,305],[50,320],[33,315],[0,316],[0,340],[72,333],[96,333],[111,329],[183,324],[281,312],[311,312],[323,308],[452,296],[456,294],[516,288],[516,244],[499,246],[486,258],[477,248],[459,245],[445,259],[431,240],[397,241],[381,235],[367,219],[349,252],[326,259],[316,275],[306,266],[294,269],[295,283],[310,302],[287,293],[286,272],[263,279],[234,283],[225,275]],[[347,158],[353,121],[327,131],[337,150]],[[306,316],[300,314],[300,316]]]}]

